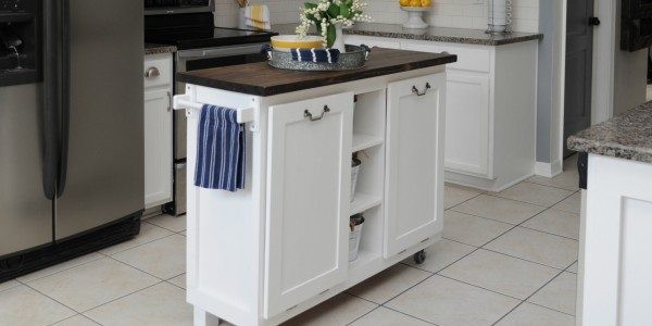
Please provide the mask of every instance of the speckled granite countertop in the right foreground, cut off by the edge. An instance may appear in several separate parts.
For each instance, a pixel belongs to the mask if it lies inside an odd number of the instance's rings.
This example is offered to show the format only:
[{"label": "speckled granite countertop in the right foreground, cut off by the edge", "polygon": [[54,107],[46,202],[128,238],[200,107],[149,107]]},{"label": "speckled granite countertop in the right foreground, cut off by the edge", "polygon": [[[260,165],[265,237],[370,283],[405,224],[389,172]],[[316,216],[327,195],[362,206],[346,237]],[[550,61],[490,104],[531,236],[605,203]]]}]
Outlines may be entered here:
[{"label": "speckled granite countertop in the right foreground, cut off by the edge", "polygon": [[568,149],[652,163],[652,101],[570,136]]}]

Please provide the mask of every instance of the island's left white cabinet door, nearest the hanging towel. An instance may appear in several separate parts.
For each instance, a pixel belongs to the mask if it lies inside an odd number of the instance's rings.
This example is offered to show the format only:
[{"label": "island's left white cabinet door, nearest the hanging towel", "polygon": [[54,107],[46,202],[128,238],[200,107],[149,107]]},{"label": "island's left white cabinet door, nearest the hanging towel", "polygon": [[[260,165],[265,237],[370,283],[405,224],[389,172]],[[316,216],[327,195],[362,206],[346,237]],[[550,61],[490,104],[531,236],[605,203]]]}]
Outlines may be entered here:
[{"label": "island's left white cabinet door, nearest the hanging towel", "polygon": [[349,92],[269,109],[266,317],[347,279],[352,120]]}]

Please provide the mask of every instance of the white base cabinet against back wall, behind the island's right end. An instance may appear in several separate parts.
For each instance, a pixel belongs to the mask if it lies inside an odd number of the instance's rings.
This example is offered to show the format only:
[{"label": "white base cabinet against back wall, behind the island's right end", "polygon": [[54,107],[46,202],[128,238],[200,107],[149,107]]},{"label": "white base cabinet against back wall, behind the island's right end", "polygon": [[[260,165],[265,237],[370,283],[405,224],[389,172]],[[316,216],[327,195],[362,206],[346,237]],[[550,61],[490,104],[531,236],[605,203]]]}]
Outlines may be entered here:
[{"label": "white base cabinet against back wall, behind the island's right end", "polygon": [[501,191],[535,173],[537,41],[480,46],[347,35],[347,42],[457,55],[447,65],[447,181]]}]

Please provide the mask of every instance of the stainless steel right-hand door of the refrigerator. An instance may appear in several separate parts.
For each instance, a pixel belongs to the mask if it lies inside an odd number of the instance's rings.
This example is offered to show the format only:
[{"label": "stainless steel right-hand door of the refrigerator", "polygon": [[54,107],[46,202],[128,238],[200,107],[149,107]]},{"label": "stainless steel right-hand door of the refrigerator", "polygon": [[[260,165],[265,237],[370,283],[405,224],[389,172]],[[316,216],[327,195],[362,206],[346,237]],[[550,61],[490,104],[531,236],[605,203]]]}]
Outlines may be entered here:
[{"label": "stainless steel right-hand door of the refrigerator", "polygon": [[142,2],[65,2],[70,88],[57,240],[145,208]]}]

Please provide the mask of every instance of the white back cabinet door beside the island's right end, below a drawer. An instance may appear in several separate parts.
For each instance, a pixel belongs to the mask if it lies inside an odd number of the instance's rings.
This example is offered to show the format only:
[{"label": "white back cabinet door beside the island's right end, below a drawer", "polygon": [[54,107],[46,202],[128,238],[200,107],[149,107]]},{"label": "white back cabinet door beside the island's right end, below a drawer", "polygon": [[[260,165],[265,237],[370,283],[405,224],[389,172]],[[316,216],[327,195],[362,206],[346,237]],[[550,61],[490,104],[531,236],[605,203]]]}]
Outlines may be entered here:
[{"label": "white back cabinet door beside the island's right end, below a drawer", "polygon": [[446,168],[492,177],[489,168],[489,75],[449,70]]}]

